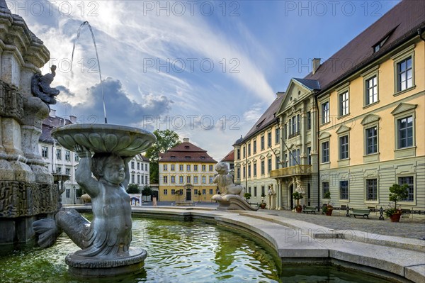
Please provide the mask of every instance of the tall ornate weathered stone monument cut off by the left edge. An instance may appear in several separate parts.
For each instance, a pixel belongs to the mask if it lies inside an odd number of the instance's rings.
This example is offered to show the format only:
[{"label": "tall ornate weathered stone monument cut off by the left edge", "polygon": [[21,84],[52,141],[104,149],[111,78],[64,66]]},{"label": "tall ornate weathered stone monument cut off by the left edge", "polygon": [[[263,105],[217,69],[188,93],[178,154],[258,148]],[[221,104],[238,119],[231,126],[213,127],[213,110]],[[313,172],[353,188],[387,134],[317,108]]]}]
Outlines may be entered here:
[{"label": "tall ornate weathered stone monument cut off by the left edge", "polygon": [[38,150],[49,106],[31,91],[34,75],[43,77],[40,68],[50,52],[4,0],[0,50],[0,244],[26,243],[34,236],[33,222],[52,217],[60,205],[57,185]]}]

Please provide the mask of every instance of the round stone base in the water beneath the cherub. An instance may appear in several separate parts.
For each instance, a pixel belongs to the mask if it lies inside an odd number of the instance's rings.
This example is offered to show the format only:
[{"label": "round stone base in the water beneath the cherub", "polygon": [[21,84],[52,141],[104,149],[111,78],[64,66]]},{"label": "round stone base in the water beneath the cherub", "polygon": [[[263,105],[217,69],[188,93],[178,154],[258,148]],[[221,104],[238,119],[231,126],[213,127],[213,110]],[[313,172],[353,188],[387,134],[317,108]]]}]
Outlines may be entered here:
[{"label": "round stone base in the water beneath the cherub", "polygon": [[101,259],[69,254],[65,262],[69,273],[79,278],[113,277],[140,272],[145,265],[146,250],[130,248],[128,257]]}]

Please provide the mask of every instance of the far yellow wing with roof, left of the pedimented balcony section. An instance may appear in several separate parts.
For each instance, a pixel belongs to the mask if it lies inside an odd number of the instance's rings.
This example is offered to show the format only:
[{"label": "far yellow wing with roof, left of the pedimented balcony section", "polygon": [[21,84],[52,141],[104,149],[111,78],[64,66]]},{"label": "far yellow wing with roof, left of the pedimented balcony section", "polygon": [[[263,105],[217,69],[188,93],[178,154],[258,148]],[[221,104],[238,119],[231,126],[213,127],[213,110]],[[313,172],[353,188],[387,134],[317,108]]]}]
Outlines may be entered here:
[{"label": "far yellow wing with roof, left of the pedimented balcony section", "polygon": [[[271,170],[280,165],[280,137],[276,112],[285,94],[278,92],[275,101],[268,107],[254,126],[234,143],[234,182],[242,184],[245,192],[251,194],[251,203],[268,203],[268,189],[273,186],[276,192],[276,179],[271,178]],[[268,206],[269,207],[269,206]]]}]

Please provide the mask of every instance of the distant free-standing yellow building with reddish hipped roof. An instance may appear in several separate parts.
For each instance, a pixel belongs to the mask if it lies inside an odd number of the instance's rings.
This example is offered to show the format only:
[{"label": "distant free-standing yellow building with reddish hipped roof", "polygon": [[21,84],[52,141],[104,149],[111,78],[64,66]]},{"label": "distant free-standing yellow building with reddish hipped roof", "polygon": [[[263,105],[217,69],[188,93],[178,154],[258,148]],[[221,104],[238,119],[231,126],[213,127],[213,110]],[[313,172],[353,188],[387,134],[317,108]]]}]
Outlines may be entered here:
[{"label": "distant free-standing yellow building with reddish hipped roof", "polygon": [[183,138],[159,159],[159,201],[210,201],[217,194],[212,184],[216,163],[206,150]]}]

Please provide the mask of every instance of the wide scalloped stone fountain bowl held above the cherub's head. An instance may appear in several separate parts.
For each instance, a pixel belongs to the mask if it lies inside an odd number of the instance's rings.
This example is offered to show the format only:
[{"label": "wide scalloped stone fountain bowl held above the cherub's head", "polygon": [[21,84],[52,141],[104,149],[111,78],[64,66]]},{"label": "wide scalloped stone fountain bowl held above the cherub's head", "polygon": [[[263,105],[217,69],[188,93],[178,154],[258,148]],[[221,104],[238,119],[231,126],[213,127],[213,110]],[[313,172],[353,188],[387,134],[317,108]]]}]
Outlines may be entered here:
[{"label": "wide scalloped stone fountain bowl held above the cherub's head", "polygon": [[120,156],[137,155],[155,143],[153,133],[128,126],[82,123],[56,128],[52,136],[67,150],[83,145],[92,152],[113,152]]}]

